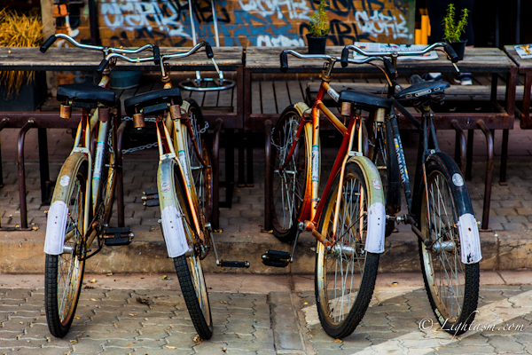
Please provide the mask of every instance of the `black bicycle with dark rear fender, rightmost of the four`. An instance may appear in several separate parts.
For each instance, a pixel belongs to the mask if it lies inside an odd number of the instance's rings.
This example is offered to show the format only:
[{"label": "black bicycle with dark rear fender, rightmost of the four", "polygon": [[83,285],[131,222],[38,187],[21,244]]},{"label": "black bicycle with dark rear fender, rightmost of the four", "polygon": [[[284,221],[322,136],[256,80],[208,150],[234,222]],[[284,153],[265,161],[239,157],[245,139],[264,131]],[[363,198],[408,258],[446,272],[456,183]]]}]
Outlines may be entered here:
[{"label": "black bicycle with dark rear fender, rightmost of the four", "polygon": [[[395,71],[399,56],[422,55],[437,48],[444,49],[447,58],[458,70],[455,64],[458,57],[446,43],[434,43],[425,50],[407,53],[393,49],[384,53],[364,51],[355,45],[348,45],[342,51],[341,65],[347,67],[348,63],[360,63],[348,58],[350,50],[366,56],[364,62],[371,62],[373,59],[385,62],[383,73],[387,77],[387,98],[392,106],[386,111],[377,110],[371,114],[372,118],[368,122],[368,130],[371,132],[370,158],[384,177],[388,221],[392,222],[392,229],[394,220],[404,222],[410,224],[412,231],[418,236],[423,280],[434,315],[445,331],[460,335],[473,322],[477,309],[481,244],[465,179],[457,163],[440,151],[430,112],[430,104],[442,103],[444,90],[450,84],[442,81],[428,82],[419,75],[412,75],[411,86],[403,89],[396,81]],[[399,101],[410,101],[421,113],[421,122]],[[395,108],[419,130],[413,192]],[[401,185],[408,211],[404,217],[396,217],[401,209]]]}]

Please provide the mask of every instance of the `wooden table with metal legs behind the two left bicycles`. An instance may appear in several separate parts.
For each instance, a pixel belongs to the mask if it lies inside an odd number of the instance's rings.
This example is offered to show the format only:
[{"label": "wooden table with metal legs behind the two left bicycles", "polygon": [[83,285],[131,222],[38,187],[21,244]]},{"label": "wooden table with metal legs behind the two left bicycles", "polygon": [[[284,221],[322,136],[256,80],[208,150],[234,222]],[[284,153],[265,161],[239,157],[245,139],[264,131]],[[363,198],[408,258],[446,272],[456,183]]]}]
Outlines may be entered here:
[{"label": "wooden table with metal legs behind the two left bicycles", "polygon": [[[161,54],[168,54],[172,52],[187,51],[187,48],[169,48],[161,47]],[[233,165],[234,165],[234,138],[233,130],[241,129],[243,127],[243,54],[242,47],[220,47],[213,48],[215,53],[216,64],[224,71],[237,72],[237,106],[234,112],[206,112],[204,117],[207,122],[216,124],[216,131],[220,132],[221,122],[223,128],[229,129],[230,137],[227,139],[229,144],[226,145],[226,181],[228,187],[227,201],[231,203],[232,186],[234,181]],[[139,53],[142,55],[142,53]],[[150,53],[146,54],[147,56]],[[5,70],[33,70],[33,71],[94,71],[98,68],[101,60],[104,59],[103,53],[100,51],[88,51],[78,48],[50,48],[46,53],[41,53],[38,48],[9,48],[0,47],[0,71]],[[193,56],[184,59],[172,59],[167,62],[170,69],[173,71],[196,71],[208,70],[215,71],[215,67],[211,59],[207,59],[204,52],[199,52]],[[160,68],[155,66],[153,62],[144,63],[129,63],[123,60],[118,61],[113,70],[142,70],[142,71],[159,71]],[[207,95],[207,93],[205,94]],[[123,99],[123,98],[122,98]],[[26,211],[26,183],[24,170],[24,138],[27,130],[30,128],[38,129],[39,138],[39,156],[40,156],[40,173],[41,173],[41,191],[43,202],[47,200],[48,189],[51,185],[49,169],[48,169],[48,148],[46,129],[47,128],[76,128],[77,122],[81,119],[81,114],[73,114],[70,120],[62,120],[59,118],[58,112],[0,112],[0,130],[4,128],[20,128],[19,142],[18,142],[18,156],[19,156],[19,188],[20,188],[20,225],[21,229],[27,229],[27,211]],[[222,119],[223,121],[219,121]],[[215,139],[215,144],[218,144],[219,139]],[[217,148],[217,146],[215,147]],[[217,149],[215,149],[214,168],[218,166]],[[216,171],[215,171],[216,174]],[[121,175],[119,171],[119,181],[117,185],[117,193],[121,192]],[[2,177],[1,162],[0,162],[0,180]],[[1,184],[1,181],[0,181]],[[218,184],[218,179],[215,178],[215,184]],[[216,188],[217,192],[217,188]],[[214,213],[217,212],[217,199],[215,199]],[[119,226],[123,226],[123,201],[120,203],[119,199],[118,214]],[[121,216],[122,217],[121,217]],[[122,224],[122,225],[121,225]],[[213,225],[218,228],[216,215],[213,217]]]}]

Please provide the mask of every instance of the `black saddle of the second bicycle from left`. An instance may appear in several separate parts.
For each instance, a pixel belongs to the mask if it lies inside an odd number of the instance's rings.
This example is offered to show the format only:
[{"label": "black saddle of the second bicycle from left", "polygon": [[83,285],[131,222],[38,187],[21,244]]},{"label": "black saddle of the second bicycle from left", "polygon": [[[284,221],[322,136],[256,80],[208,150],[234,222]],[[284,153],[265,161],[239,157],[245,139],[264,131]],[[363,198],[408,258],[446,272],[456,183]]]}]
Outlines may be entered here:
[{"label": "black saddle of the second bicycle from left", "polygon": [[[181,98],[181,91],[179,89],[160,89],[157,91],[146,92],[145,94],[137,95],[124,101],[126,114],[133,116],[140,110],[144,114],[157,114],[160,111],[168,108],[170,99],[174,99],[174,105],[183,104]],[[137,112],[135,111],[137,108]]]}]

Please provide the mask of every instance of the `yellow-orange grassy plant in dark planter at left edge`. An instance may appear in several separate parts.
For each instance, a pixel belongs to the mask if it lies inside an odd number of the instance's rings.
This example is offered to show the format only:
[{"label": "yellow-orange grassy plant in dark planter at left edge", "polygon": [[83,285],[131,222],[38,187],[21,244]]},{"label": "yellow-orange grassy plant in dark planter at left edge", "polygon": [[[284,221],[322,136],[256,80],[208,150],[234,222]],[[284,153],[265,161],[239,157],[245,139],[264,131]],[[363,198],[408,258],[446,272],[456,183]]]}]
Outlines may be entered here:
[{"label": "yellow-orange grassy plant in dark planter at left edge", "polygon": [[[11,10],[0,11],[0,47],[38,47],[41,43],[40,19]],[[44,72],[0,71],[0,111],[34,111],[47,94]]]}]

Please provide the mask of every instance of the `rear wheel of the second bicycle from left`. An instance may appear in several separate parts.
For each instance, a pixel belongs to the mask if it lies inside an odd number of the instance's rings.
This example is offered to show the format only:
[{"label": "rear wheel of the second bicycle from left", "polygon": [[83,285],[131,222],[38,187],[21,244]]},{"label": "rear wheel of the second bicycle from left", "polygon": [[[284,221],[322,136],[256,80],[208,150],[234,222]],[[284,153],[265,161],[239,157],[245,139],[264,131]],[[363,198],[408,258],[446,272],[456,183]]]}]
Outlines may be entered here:
[{"label": "rear wheel of the second bicycle from left", "polygon": [[[195,249],[196,234],[192,232],[192,217],[188,204],[184,200],[184,191],[180,181],[179,168],[175,168],[174,193],[176,194],[176,208],[184,215],[184,231],[189,248]],[[183,208],[183,206],[186,206]],[[213,319],[208,300],[207,285],[203,277],[200,256],[176,256],[173,258],[177,279],[181,286],[186,308],[191,316],[192,324],[201,339],[209,339],[213,335]]]}]

